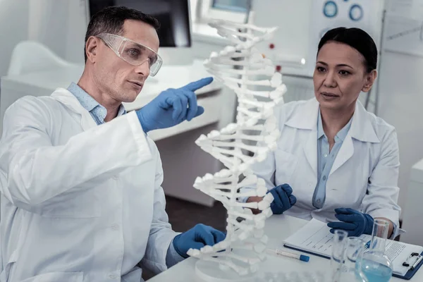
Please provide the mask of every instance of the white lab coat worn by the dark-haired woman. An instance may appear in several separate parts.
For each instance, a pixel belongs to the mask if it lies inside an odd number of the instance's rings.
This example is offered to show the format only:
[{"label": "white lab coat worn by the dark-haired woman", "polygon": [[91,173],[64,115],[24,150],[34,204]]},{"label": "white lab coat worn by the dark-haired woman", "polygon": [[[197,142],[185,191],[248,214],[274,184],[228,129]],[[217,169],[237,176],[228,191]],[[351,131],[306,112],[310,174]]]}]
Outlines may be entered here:
[{"label": "white lab coat worn by the dark-haired woman", "polygon": [[[338,221],[334,209],[350,207],[373,217],[386,217],[399,227],[399,154],[395,128],[355,106],[348,135],[333,163],[326,183],[326,202],[313,207],[317,185],[316,99],[290,102],[276,108],[281,131],[277,149],[253,171],[266,180],[268,189],[288,183],[297,203],[284,214],[301,219]],[[399,228],[398,228],[399,229]]]}]

